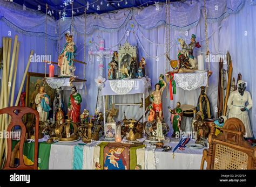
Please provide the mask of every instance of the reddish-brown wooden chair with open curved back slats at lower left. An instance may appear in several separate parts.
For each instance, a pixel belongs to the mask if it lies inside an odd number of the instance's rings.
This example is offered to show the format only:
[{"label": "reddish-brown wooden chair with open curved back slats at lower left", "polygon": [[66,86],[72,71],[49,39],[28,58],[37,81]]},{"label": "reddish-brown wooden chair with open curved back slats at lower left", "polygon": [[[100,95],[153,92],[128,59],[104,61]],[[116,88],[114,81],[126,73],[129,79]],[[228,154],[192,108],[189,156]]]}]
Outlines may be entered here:
[{"label": "reddish-brown wooden chair with open curved back slats at lower left", "polygon": [[[35,126],[35,153],[34,153],[34,164],[31,166],[27,166],[24,164],[23,160],[23,145],[25,141],[26,135],[26,126],[22,121],[22,117],[27,114],[32,113],[36,116],[36,126]],[[22,106],[13,106],[13,107],[6,107],[0,110],[0,114],[9,114],[11,116],[11,122],[7,127],[7,132],[11,132],[14,126],[18,125],[21,127],[22,134],[21,139],[19,141],[19,166],[14,168],[11,163],[11,156],[12,153],[12,139],[7,139],[8,145],[8,152],[6,163],[3,169],[37,169],[37,160],[38,160],[38,130],[39,130],[39,113],[35,109],[31,109],[29,107],[22,107]]]}]

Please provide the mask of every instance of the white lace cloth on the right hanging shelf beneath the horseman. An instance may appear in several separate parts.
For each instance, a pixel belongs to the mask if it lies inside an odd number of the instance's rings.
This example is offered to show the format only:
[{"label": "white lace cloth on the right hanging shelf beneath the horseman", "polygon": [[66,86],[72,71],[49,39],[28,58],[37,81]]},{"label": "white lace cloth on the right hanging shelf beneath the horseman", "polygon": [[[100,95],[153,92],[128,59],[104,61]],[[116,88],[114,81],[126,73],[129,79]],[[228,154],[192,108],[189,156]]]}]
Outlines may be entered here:
[{"label": "white lace cloth on the right hanging shelf beneath the horseman", "polygon": [[204,73],[178,73],[174,74],[176,86],[184,90],[196,90],[207,85],[207,72]]}]

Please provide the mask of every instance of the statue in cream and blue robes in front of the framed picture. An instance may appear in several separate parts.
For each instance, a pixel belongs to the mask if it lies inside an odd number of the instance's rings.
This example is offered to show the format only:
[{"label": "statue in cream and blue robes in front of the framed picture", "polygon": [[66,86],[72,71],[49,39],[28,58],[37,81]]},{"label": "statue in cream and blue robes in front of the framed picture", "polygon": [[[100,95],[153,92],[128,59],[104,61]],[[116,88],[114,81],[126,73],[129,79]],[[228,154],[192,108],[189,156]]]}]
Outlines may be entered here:
[{"label": "statue in cream and blue robes in front of the framed picture", "polygon": [[35,103],[37,104],[37,111],[39,113],[39,120],[46,121],[48,118],[50,107],[50,97],[45,93],[44,87],[40,87],[39,93],[37,93],[35,98]]}]

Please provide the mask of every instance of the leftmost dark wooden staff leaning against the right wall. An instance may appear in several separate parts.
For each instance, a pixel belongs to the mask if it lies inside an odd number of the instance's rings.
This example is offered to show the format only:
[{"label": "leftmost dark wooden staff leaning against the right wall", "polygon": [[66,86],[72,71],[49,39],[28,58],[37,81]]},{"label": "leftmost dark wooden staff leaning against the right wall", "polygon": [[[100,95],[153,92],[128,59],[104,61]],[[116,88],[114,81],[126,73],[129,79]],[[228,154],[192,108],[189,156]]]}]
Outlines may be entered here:
[{"label": "leftmost dark wooden staff leaning against the right wall", "polygon": [[217,118],[222,116],[223,113],[223,89],[222,89],[222,81],[221,81],[221,76],[223,72],[223,60],[220,59],[219,62],[219,83],[218,83],[218,102],[217,102]]}]

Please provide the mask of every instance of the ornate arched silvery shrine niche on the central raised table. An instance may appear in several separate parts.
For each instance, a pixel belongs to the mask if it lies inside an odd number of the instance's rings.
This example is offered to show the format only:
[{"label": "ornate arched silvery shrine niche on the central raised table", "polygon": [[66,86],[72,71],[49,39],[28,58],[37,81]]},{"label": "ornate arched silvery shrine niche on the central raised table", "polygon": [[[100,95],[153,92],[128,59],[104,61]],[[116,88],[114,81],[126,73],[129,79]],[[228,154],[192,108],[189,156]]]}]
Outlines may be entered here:
[{"label": "ornate arched silvery shrine niche on the central raised table", "polygon": [[[121,78],[134,78],[136,68],[131,64],[138,64],[137,47],[131,46],[127,41],[118,48],[118,67],[121,72]],[[134,71],[134,72],[133,72]]]}]

